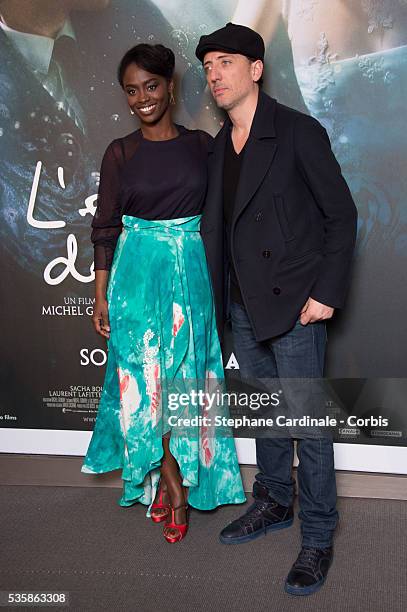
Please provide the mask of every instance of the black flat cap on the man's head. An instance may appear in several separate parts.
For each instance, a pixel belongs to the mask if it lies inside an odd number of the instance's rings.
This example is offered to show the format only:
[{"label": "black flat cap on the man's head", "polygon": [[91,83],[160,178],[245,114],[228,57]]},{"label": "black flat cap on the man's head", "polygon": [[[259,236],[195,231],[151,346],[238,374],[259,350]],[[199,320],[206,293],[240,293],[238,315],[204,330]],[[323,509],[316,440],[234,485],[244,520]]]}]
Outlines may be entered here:
[{"label": "black flat cap on the man's head", "polygon": [[227,23],[224,28],[201,36],[195,51],[197,58],[203,62],[209,51],[226,51],[240,53],[252,59],[264,59],[264,41],[260,34],[246,26]]}]

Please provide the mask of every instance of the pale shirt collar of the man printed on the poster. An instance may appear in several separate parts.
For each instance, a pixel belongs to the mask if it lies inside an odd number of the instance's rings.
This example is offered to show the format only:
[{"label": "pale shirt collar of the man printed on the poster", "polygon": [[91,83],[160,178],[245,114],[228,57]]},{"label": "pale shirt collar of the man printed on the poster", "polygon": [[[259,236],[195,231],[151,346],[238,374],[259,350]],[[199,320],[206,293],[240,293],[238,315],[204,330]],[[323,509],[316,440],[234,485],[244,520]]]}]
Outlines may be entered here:
[{"label": "pale shirt collar of the man printed on the poster", "polygon": [[2,18],[0,20],[0,28],[31,68],[44,75],[48,74],[55,40],[61,36],[69,36],[76,40],[70,19],[65,21],[55,39],[49,36],[40,36],[39,34],[28,34],[27,32],[13,30],[6,25]]}]

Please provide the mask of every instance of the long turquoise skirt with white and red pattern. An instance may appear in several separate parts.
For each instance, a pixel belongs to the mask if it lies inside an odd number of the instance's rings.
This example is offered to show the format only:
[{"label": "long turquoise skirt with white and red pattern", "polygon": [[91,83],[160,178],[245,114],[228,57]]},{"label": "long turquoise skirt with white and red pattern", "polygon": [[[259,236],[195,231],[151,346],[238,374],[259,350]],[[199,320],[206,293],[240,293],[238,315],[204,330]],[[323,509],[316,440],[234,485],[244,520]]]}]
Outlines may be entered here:
[{"label": "long turquoise skirt with white and red pattern", "polygon": [[123,216],[109,275],[107,369],[81,471],[122,469],[119,505],[141,502],[147,516],[163,435],[191,506],[211,510],[246,499],[234,439],[214,423],[210,402],[197,399],[215,387],[220,397],[224,376],[200,220]]}]

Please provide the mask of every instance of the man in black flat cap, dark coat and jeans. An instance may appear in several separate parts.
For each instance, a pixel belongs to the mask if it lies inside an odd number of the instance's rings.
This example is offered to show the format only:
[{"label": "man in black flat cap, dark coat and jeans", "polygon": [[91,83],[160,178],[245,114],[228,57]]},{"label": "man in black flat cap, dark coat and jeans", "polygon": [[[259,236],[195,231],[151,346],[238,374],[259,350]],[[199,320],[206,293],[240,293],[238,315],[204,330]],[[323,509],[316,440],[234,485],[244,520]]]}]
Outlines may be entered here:
[{"label": "man in black flat cap, dark coat and jeans", "polygon": [[[322,378],[325,320],[344,304],[356,237],[349,189],[325,129],[260,90],[259,34],[228,23],[196,55],[228,114],[202,219],[219,333],[230,314],[244,377]],[[302,548],[285,589],[307,595],[327,576],[338,513],[331,437],[299,437]],[[254,504],[223,529],[225,544],[292,524],[293,439],[258,438],[256,451]]]}]

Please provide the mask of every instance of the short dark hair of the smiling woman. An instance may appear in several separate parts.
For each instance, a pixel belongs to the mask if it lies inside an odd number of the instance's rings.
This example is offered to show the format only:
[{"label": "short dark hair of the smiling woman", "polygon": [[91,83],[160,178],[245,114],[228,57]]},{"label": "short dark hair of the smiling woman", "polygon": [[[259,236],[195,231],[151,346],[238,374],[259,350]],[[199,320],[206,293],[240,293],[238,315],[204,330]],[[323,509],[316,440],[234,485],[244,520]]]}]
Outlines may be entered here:
[{"label": "short dark hair of the smiling woman", "polygon": [[130,64],[137,64],[151,74],[158,74],[170,81],[174,74],[175,55],[164,45],[140,43],[132,47],[122,57],[117,70],[118,81],[123,87],[123,77]]}]

